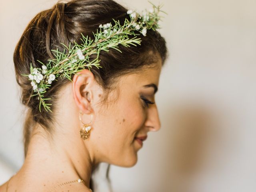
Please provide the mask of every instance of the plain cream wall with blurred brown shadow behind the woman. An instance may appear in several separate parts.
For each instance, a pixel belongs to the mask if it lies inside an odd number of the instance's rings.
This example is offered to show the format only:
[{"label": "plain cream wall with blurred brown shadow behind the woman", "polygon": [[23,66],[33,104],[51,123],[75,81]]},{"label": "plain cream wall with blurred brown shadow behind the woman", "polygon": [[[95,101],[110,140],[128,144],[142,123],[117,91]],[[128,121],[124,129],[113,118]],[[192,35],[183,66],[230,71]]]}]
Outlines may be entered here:
[{"label": "plain cream wall with blurred brown shadow behind the woman", "polygon": [[[14,47],[36,13],[55,2],[1,0],[0,183],[24,161]],[[146,0],[119,2],[151,8]],[[114,191],[256,191],[256,1],[160,3],[170,52],[156,94],[162,128],[148,134],[134,167],[111,166]]]}]

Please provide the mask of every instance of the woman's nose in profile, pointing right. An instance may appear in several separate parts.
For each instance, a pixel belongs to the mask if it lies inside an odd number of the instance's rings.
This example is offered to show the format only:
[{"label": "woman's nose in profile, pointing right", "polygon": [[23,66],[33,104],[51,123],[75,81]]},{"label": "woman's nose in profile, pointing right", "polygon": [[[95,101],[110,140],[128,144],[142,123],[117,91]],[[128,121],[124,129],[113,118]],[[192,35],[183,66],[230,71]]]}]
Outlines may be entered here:
[{"label": "woman's nose in profile, pointing right", "polygon": [[156,104],[148,108],[148,116],[145,122],[145,126],[149,127],[150,131],[158,131],[161,127],[160,119],[158,116],[158,109]]}]

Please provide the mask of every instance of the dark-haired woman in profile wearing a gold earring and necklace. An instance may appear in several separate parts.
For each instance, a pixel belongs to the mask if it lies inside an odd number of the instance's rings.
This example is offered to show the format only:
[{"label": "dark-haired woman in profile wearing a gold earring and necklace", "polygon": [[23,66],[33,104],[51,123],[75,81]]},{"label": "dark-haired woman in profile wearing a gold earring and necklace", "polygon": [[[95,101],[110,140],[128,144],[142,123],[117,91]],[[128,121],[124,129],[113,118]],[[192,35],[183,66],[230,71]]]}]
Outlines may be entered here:
[{"label": "dark-haired woman in profile wearing a gold earring and necklace", "polygon": [[[63,52],[62,44],[82,43],[81,33],[94,39],[99,26],[103,34],[109,27],[101,24],[112,26],[119,20],[124,26],[126,19],[135,16],[112,0],[72,0],[40,12],[28,24],[14,51],[16,80],[27,107],[25,161],[0,186],[0,192],[90,192],[92,172],[100,162],[123,167],[136,164],[147,133],[160,128],[154,94],[167,50],[157,31],[134,25],[141,32],[140,45],[133,46],[135,42],[100,51],[100,68],[83,68],[70,79],[49,75],[47,90],[39,90],[43,97],[32,96],[38,90],[39,76],[37,80],[33,76],[38,74],[36,68],[42,74],[52,69],[43,65],[54,58],[51,50]],[[100,49],[101,40],[92,48]],[[83,54],[76,52],[81,60],[86,59]],[[70,63],[72,70],[76,62]],[[29,78],[24,74],[30,74]]]}]

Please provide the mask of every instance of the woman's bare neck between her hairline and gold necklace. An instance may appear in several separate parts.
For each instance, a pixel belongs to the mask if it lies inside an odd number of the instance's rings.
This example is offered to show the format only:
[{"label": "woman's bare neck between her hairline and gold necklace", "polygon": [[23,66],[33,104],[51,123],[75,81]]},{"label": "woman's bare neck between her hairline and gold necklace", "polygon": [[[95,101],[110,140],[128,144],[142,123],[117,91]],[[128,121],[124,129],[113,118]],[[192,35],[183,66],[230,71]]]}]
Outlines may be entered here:
[{"label": "woman's bare neck between her hairline and gold necklace", "polygon": [[97,164],[90,156],[86,141],[80,139],[79,132],[75,134],[78,134],[76,141],[72,140],[73,136],[67,138],[60,134],[52,142],[43,134],[31,134],[26,159],[17,175],[24,182],[45,182],[49,187],[80,178],[89,188],[91,173]]}]

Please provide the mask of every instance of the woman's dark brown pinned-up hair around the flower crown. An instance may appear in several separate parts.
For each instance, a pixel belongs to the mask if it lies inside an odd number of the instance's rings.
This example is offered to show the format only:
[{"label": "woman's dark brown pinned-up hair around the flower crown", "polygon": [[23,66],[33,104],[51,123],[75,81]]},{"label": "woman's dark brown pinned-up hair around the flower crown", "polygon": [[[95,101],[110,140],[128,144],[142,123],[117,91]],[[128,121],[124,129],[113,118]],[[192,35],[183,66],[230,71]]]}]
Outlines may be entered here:
[{"label": "woman's dark brown pinned-up hair around the flower crown", "polygon": [[[50,133],[50,124],[54,120],[54,103],[58,101],[58,90],[68,82],[67,78],[58,79],[51,84],[50,89],[44,94],[51,98],[51,112],[44,109],[39,112],[37,98],[30,97],[33,89],[30,80],[21,74],[30,74],[32,67],[41,68],[48,59],[54,59],[52,49],[64,50],[60,43],[68,45],[76,41],[81,43],[81,33],[93,38],[93,33],[100,24],[113,23],[120,20],[123,24],[125,18],[130,19],[127,9],[113,0],[72,0],[68,3],[58,2],[51,9],[38,13],[28,24],[14,51],[14,66],[16,80],[21,87],[21,102],[27,107],[24,122],[24,153],[26,156],[30,134],[34,123],[41,124],[46,132]],[[141,45],[124,47],[119,46],[122,53],[111,49],[110,52],[100,52],[100,65],[102,68],[92,68],[91,71],[96,81],[105,89],[111,89],[113,80],[126,73],[135,72],[143,66],[150,66],[160,56],[162,63],[166,60],[166,42],[164,38],[153,30],[148,30],[146,36],[140,35]],[[93,59],[93,58],[92,58]],[[73,76],[72,76],[73,77]]]}]

